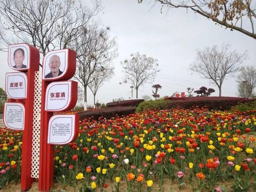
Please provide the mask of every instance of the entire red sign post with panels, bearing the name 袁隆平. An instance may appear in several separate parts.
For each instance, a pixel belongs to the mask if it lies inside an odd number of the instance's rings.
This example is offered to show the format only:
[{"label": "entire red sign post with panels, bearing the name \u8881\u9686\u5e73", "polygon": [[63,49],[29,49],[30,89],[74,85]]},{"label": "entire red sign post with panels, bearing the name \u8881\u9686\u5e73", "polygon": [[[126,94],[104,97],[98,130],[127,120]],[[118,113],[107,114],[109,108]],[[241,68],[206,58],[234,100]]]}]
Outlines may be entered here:
[{"label": "entire red sign post with panels, bearing the name \u8881\u9686\u5e73", "polygon": [[[21,168],[21,188],[22,190],[27,190],[31,187],[34,178],[31,177],[31,158],[32,158],[32,129],[33,129],[33,106],[34,106],[34,78],[35,72],[39,70],[39,51],[34,46],[28,44],[15,44],[10,45],[8,50],[8,64],[10,68],[22,72],[10,74],[10,78],[6,81],[6,92],[8,92],[8,103],[21,103],[25,107],[23,136],[22,136],[22,168]],[[19,75],[18,78],[14,78],[13,75]],[[6,74],[7,76],[8,74]],[[27,76],[27,79],[19,80],[22,76]],[[17,80],[18,81],[15,81]],[[14,81],[13,81],[14,80]],[[12,89],[13,88],[13,89]],[[16,96],[15,89],[20,91],[17,88],[24,88],[25,95]],[[12,91],[11,91],[12,90]],[[8,105],[5,103],[5,106]],[[16,121],[17,123],[20,120],[14,120],[14,114],[20,114],[19,110],[15,108],[10,108],[7,114],[7,106],[4,108],[4,123],[8,128],[10,127],[11,122]],[[14,111],[15,110],[15,111]],[[22,111],[22,110],[21,110]],[[6,120],[8,119],[8,122]],[[9,124],[9,126],[8,126]],[[11,128],[13,129],[13,128]],[[14,129],[19,129],[14,127]]]}]

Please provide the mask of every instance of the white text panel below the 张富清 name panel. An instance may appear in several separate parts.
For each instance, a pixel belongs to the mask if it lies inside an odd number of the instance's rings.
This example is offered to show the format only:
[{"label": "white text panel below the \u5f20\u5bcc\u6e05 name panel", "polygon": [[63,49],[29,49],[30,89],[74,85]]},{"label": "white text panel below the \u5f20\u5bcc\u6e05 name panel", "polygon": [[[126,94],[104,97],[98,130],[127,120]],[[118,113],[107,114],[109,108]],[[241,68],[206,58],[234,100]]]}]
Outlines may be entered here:
[{"label": "white text panel below the \u5f20\u5bcc\u6e05 name panel", "polygon": [[54,115],[48,127],[48,144],[67,144],[75,133],[75,115]]}]

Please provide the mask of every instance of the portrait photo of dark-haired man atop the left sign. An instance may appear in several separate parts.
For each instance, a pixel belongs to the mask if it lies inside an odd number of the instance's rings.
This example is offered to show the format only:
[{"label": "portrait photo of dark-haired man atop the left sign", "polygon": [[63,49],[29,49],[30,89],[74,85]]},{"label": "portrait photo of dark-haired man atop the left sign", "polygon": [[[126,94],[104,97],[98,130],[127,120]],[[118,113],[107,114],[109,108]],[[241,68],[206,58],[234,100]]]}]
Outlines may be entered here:
[{"label": "portrait photo of dark-haired man atop the left sign", "polygon": [[15,70],[24,70],[29,68],[28,49],[25,46],[11,47],[9,50],[10,67]]}]

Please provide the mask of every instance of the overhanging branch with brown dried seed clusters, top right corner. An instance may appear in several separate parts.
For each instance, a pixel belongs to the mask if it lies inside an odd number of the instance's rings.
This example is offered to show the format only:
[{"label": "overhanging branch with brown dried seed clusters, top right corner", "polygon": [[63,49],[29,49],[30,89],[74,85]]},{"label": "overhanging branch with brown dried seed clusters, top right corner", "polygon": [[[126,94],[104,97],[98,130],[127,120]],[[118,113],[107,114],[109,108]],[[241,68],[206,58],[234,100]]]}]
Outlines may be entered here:
[{"label": "overhanging branch with brown dried seed clusters, top right corner", "polygon": [[[143,0],[138,0],[141,3]],[[252,0],[155,0],[167,9],[184,8],[198,13],[216,24],[239,31],[256,39],[256,4]],[[161,8],[161,13],[162,13]]]}]

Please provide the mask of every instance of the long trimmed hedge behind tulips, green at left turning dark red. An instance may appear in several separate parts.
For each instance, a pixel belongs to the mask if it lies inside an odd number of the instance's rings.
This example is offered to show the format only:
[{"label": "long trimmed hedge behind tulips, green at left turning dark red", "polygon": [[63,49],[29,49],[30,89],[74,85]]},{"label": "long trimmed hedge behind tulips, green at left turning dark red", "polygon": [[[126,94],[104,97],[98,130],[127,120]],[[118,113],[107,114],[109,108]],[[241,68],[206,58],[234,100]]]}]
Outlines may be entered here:
[{"label": "long trimmed hedge behind tulips, green at left turning dark red", "polygon": [[198,106],[199,108],[205,107],[209,110],[221,109],[229,110],[232,106],[236,106],[238,103],[253,102],[256,99],[245,99],[240,97],[194,97],[185,100],[155,100],[146,101],[139,104],[137,111],[143,111],[150,109],[171,109],[171,108],[194,108]]}]

